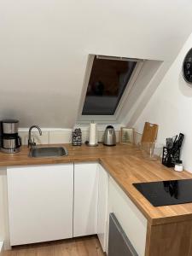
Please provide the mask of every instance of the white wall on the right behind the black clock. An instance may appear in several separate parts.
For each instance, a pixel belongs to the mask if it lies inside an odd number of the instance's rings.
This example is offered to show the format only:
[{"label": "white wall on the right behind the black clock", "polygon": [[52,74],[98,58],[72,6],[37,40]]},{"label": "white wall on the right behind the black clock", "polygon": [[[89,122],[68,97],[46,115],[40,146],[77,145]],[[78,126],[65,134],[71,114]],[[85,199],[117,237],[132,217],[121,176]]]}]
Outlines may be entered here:
[{"label": "white wall on the right behind the black clock", "polygon": [[161,143],[165,143],[166,137],[183,132],[185,140],[182,160],[184,167],[190,172],[192,172],[192,86],[183,79],[182,64],[191,45],[192,34],[134,125],[139,132],[143,131],[145,121],[160,125],[158,141]]}]

